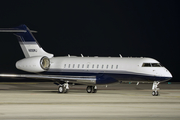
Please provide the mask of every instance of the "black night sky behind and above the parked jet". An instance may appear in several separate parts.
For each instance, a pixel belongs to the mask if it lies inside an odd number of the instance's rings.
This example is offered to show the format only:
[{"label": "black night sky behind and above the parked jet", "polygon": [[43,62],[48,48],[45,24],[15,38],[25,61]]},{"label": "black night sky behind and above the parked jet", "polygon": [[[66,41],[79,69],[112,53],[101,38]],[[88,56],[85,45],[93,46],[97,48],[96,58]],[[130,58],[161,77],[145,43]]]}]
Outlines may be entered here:
[{"label": "black night sky behind and above the parked jet", "polygon": [[[26,24],[49,53],[80,56],[151,57],[179,81],[179,3],[177,0],[6,0],[0,28]],[[0,33],[0,73],[23,73],[18,40]]]}]

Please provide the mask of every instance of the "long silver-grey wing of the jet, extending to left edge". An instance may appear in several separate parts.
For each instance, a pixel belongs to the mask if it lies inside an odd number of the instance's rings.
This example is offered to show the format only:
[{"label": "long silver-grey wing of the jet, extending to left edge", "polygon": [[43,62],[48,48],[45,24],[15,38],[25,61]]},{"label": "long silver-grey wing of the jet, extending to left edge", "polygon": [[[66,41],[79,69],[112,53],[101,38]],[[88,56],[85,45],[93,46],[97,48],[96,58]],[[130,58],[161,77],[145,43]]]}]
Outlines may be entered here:
[{"label": "long silver-grey wing of the jet, extending to left edge", "polygon": [[61,82],[80,83],[80,84],[96,84],[96,76],[0,74],[0,77],[48,79],[48,80],[55,80]]}]

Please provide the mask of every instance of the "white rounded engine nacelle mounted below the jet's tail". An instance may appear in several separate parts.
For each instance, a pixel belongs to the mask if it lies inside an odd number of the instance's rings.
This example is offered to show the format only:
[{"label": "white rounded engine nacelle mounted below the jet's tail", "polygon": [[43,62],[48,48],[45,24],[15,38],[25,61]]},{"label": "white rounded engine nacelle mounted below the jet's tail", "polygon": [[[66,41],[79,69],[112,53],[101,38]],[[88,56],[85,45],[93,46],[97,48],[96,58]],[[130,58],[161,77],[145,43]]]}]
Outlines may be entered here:
[{"label": "white rounded engine nacelle mounted below the jet's tail", "polygon": [[27,72],[43,72],[50,67],[48,57],[30,57],[16,62],[16,68]]}]

